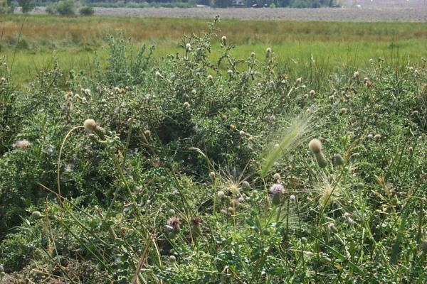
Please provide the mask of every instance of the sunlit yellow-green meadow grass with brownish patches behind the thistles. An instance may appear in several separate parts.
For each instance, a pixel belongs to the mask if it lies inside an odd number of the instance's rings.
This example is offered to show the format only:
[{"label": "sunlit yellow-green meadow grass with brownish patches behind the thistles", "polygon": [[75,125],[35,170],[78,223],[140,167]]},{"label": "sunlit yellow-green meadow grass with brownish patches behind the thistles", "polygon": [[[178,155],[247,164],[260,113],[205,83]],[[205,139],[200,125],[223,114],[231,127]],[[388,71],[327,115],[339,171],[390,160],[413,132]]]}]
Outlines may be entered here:
[{"label": "sunlit yellow-green meadow grass with brownish patches behind the thistles", "polygon": [[[2,16],[2,50],[9,62],[16,56],[13,75],[28,82],[36,70],[51,65],[52,56],[64,70],[90,70],[95,51],[105,58],[105,35],[123,32],[137,45],[156,45],[155,55],[182,51],[183,34],[202,33],[204,19],[194,18],[120,18],[58,16]],[[282,62],[295,66],[307,64],[322,69],[352,65],[363,67],[369,58],[385,58],[396,65],[427,57],[427,23],[354,23],[300,21],[224,20],[214,39],[212,60],[220,54],[219,37],[226,35],[236,43],[233,53],[262,58],[265,48],[273,48]],[[20,36],[21,42],[17,44]],[[17,48],[16,48],[17,46]]]}]

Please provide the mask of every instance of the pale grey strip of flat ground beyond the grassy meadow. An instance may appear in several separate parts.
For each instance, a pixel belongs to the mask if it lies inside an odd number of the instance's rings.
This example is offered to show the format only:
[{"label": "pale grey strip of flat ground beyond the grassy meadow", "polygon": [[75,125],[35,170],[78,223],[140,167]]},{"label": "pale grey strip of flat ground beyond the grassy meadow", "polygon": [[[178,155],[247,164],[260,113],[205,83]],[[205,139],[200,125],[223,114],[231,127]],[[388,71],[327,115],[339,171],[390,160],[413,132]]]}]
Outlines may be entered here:
[{"label": "pale grey strip of flat ground beyond the grassy meadow", "polygon": [[[350,0],[347,0],[350,1]],[[167,18],[239,18],[290,21],[427,21],[426,0],[359,0],[342,8],[320,9],[213,9],[213,8],[95,8],[98,16]],[[33,13],[46,13],[37,7]]]}]

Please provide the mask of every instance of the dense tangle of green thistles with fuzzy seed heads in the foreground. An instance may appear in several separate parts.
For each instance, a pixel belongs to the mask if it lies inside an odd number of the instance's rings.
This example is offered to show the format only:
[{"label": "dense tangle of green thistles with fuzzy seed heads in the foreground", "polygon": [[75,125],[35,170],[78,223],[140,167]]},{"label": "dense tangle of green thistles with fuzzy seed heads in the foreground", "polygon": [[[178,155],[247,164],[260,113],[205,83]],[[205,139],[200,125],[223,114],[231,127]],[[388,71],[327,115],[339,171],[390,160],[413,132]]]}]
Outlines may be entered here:
[{"label": "dense tangle of green thistles with fuzzy seed heads in the foreground", "polygon": [[0,278],[427,279],[426,62],[322,77],[216,33],[167,58],[117,35],[105,69],[26,89],[3,59]]}]

